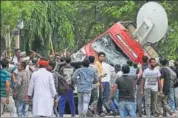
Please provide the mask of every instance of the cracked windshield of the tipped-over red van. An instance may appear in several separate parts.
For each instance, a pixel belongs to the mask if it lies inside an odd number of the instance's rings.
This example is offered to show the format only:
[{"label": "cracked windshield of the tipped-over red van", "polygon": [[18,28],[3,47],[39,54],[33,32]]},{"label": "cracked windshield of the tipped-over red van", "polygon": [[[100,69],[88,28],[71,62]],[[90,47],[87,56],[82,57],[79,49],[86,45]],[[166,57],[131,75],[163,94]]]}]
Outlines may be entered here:
[{"label": "cracked windshield of the tipped-over red van", "polygon": [[91,46],[96,52],[106,53],[106,63],[123,65],[129,60],[109,34],[94,41]]}]

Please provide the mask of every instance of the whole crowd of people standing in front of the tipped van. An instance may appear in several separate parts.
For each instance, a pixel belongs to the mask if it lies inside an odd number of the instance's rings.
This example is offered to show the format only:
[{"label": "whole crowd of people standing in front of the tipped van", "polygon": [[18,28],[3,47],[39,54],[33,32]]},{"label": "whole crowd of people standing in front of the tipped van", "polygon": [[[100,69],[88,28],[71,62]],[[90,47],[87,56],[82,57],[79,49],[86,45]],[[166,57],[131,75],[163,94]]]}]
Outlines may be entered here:
[{"label": "whole crowd of people standing in front of the tipped van", "polygon": [[99,52],[75,68],[70,56],[34,57],[16,49],[12,59],[1,58],[1,116],[7,109],[10,117],[28,117],[32,107],[34,117],[63,117],[68,102],[72,117],[176,117],[178,60],[144,56],[142,64],[111,66]]}]

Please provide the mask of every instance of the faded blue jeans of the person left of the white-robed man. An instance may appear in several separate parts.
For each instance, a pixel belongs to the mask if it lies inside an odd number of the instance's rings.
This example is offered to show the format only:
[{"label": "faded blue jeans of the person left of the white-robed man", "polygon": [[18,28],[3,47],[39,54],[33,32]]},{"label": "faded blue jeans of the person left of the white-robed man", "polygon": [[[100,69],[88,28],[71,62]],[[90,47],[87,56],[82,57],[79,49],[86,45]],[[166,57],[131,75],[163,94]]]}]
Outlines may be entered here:
[{"label": "faded blue jeans of the person left of the white-robed man", "polygon": [[16,100],[15,104],[16,104],[16,108],[17,108],[18,117],[20,117],[20,118],[22,116],[28,117],[29,104],[24,101],[21,101],[21,100]]}]

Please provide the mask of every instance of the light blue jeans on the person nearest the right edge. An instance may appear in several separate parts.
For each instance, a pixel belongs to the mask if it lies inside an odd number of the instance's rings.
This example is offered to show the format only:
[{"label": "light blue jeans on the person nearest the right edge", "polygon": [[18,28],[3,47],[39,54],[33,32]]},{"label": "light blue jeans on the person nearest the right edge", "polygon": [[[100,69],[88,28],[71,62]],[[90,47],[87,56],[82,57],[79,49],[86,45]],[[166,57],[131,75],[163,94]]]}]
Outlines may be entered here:
[{"label": "light blue jeans on the person nearest the right edge", "polygon": [[175,112],[175,88],[170,88],[168,103],[171,110]]}]

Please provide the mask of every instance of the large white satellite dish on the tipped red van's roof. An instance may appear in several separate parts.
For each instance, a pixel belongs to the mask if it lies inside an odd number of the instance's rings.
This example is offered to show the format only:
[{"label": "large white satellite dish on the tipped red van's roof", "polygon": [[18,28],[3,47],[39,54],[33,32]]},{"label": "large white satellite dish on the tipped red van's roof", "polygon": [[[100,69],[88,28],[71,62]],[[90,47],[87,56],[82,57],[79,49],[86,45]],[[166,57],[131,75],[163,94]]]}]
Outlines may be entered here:
[{"label": "large white satellite dish on the tipped red van's roof", "polygon": [[167,30],[167,13],[159,3],[147,2],[140,8],[134,36],[141,44],[158,42],[165,36]]}]

